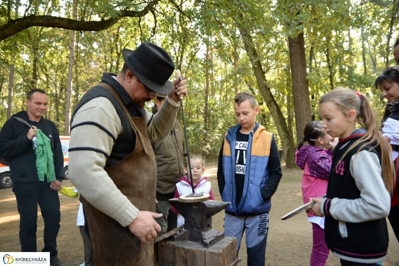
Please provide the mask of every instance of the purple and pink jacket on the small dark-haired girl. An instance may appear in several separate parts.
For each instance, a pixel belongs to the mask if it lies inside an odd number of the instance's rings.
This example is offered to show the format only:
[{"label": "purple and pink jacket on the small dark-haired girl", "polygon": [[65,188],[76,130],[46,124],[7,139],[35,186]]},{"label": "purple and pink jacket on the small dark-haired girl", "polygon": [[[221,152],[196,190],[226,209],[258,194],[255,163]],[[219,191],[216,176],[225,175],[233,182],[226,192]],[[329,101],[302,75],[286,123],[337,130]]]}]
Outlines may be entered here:
[{"label": "purple and pink jacket on the small dark-haired girl", "polygon": [[[332,159],[331,148],[322,149],[304,145],[295,152],[295,162],[303,170],[302,197],[304,204],[309,202],[309,198],[321,197],[327,193]],[[313,216],[313,213],[308,213],[308,217]]]}]

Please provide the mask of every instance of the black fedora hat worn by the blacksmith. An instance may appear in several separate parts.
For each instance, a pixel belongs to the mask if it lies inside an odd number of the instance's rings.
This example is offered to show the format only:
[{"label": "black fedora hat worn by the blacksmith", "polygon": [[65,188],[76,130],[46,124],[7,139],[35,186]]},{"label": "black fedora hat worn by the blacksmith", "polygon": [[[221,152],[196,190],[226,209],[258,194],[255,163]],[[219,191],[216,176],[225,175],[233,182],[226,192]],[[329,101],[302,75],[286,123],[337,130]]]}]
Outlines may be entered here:
[{"label": "black fedora hat worn by the blacksmith", "polygon": [[145,41],[136,50],[122,50],[123,59],[130,71],[151,90],[168,95],[172,92],[169,81],[175,64],[171,56],[161,47]]}]

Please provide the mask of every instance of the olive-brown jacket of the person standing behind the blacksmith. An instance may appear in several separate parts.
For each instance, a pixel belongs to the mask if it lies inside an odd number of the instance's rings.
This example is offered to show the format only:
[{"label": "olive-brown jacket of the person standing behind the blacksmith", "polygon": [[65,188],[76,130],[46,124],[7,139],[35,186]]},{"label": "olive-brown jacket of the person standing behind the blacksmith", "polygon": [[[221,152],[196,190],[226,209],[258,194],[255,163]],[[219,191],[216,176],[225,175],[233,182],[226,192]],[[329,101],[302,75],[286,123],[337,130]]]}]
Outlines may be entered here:
[{"label": "olive-brown jacket of the person standing behind the blacksmith", "polygon": [[[154,105],[153,113],[158,112]],[[151,142],[157,160],[157,200],[172,199],[176,183],[184,176],[184,163],[187,160],[186,141],[179,120],[176,119],[172,131],[163,139]]]}]

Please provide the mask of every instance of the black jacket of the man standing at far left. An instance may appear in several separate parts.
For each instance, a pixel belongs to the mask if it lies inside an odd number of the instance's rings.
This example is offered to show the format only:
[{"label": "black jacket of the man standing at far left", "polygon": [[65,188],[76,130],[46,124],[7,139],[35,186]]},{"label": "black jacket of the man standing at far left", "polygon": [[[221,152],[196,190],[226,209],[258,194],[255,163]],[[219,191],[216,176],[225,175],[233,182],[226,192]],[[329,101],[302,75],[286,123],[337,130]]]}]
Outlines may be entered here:
[{"label": "black jacket of the man standing at far left", "polygon": [[[12,117],[22,118],[30,125],[40,129],[50,139],[55,178],[62,181],[64,177],[64,156],[59,133],[54,122],[45,118],[41,118],[39,122],[30,121],[26,111],[16,113]],[[32,148],[32,140],[29,140],[26,136],[29,128],[12,117],[4,123],[0,131],[0,157],[9,159],[10,175],[14,183],[38,182],[36,154]]]}]

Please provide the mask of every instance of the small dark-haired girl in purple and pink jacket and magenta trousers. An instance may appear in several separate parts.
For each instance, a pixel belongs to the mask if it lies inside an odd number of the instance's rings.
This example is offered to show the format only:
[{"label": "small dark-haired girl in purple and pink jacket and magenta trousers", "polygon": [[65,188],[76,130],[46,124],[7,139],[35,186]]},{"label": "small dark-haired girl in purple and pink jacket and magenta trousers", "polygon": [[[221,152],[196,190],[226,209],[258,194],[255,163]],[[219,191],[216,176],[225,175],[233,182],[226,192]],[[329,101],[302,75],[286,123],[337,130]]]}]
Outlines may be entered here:
[{"label": "small dark-haired girl in purple and pink jacket and magenta trousers", "polygon": [[[309,198],[321,197],[327,192],[330,177],[333,152],[338,139],[332,138],[321,126],[321,121],[313,121],[306,125],[304,138],[298,143],[295,152],[295,162],[303,170],[302,196],[303,203]],[[309,145],[304,145],[308,142]],[[313,248],[310,266],[324,266],[328,259],[329,250],[324,241],[324,217],[316,217],[308,213],[308,221],[312,223]]]}]

